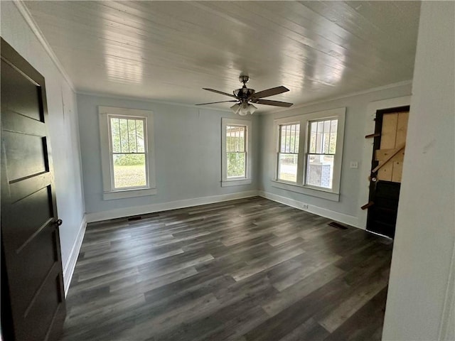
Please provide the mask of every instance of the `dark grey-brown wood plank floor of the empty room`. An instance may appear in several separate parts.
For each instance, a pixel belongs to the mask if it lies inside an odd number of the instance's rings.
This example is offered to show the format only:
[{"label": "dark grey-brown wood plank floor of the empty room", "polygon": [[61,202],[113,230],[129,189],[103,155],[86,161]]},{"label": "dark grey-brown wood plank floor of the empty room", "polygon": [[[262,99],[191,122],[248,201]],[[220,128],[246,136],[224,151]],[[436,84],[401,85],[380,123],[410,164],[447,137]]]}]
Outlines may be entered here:
[{"label": "dark grey-brown wood plank floor of the empty room", "polygon": [[262,197],[89,224],[63,340],[380,340],[392,244]]}]

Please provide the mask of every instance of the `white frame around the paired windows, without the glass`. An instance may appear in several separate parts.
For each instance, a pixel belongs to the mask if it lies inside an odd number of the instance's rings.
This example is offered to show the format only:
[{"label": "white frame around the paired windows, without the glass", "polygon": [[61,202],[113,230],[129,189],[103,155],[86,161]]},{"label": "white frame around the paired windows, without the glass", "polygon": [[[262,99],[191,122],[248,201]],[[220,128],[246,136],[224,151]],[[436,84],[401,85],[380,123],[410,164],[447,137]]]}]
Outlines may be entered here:
[{"label": "white frame around the paired windows, without the glass", "polygon": [[[332,188],[306,185],[306,171],[308,169],[306,155],[309,153],[309,122],[322,119],[338,119],[336,135],[336,153],[333,160]],[[346,107],[312,112],[293,117],[274,119],[274,141],[275,141],[275,175],[272,180],[273,186],[290,190],[296,193],[321,197],[323,199],[339,201],[341,185],[341,163],[343,161],[343,140],[344,126],[346,120]],[[297,161],[296,183],[278,179],[278,153],[279,153],[279,127],[284,124],[300,124],[299,153]]]}]

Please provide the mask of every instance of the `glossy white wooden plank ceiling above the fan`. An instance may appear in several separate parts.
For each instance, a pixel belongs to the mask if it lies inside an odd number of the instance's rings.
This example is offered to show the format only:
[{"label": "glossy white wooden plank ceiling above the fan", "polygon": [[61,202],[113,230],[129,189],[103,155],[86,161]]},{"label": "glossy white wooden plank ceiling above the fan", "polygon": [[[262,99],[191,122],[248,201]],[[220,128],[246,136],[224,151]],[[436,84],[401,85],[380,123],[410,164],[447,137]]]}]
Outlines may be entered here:
[{"label": "glossy white wooden plank ceiling above the fan", "polygon": [[[418,1],[26,1],[78,92],[301,104],[412,79]],[[227,109],[228,103],[213,107]],[[261,112],[274,107],[264,105]]]}]

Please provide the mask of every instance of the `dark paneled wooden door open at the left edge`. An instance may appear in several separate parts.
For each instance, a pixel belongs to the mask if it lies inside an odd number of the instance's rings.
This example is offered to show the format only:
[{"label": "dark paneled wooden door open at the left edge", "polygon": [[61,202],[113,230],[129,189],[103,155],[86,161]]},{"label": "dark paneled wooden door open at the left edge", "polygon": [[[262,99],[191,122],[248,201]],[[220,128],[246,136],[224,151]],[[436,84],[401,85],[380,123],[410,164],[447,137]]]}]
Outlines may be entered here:
[{"label": "dark paneled wooden door open at the left edge", "polygon": [[44,78],[1,40],[1,332],[53,340],[65,318]]}]

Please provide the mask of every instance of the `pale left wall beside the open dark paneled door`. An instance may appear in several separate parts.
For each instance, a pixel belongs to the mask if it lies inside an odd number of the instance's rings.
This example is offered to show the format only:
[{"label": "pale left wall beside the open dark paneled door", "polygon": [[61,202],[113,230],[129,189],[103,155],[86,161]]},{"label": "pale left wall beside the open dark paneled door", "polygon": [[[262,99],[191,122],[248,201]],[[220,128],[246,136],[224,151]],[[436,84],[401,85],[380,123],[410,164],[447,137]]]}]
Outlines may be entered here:
[{"label": "pale left wall beside the open dark paneled door", "polygon": [[52,148],[60,244],[65,288],[68,289],[84,224],[84,202],[75,93],[45,52],[43,45],[11,1],[1,1],[1,36],[45,77],[48,129]]}]

